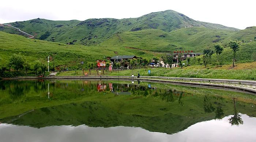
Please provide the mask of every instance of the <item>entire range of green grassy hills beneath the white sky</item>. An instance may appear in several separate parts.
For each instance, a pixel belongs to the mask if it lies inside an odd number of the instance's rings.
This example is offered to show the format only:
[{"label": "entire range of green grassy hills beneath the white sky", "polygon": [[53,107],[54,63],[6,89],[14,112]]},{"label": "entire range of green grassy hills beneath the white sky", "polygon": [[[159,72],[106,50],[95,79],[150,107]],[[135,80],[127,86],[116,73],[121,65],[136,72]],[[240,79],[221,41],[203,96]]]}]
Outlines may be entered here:
[{"label": "entire range of green grassy hills beneath the white sky", "polygon": [[228,41],[238,39],[244,42],[238,51],[238,62],[252,61],[256,50],[256,27],[238,30],[195,21],[172,10],[129,19],[52,21],[38,18],[10,24],[35,35],[36,39],[14,35],[20,32],[0,25],[0,31],[4,31],[0,32],[1,64],[14,53],[25,55],[28,61],[46,61],[51,55],[57,66],[74,66],[79,61],[106,60],[106,57],[116,54],[152,58],[176,50],[202,53],[216,42],[226,47],[221,55],[222,64],[230,64],[232,57]]}]

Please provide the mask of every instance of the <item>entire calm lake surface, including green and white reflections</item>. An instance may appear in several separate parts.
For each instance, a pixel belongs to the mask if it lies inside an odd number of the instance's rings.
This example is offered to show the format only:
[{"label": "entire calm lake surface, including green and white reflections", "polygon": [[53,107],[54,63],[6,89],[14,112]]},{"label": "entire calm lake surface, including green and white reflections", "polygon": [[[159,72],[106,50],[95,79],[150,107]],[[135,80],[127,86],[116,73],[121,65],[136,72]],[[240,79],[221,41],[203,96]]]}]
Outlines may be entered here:
[{"label": "entire calm lake surface, including green and white reflections", "polygon": [[140,81],[0,81],[0,142],[255,142],[256,96]]}]

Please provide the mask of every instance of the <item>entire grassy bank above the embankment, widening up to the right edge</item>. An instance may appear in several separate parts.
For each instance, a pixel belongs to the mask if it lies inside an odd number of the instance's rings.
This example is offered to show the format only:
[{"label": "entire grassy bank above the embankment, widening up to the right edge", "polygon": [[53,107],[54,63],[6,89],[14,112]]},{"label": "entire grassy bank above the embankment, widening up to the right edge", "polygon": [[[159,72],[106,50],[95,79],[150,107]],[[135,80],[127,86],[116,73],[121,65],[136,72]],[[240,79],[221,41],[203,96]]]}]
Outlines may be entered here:
[{"label": "entire grassy bank above the embankment, widening up to the right edge", "polygon": [[[135,76],[140,73],[141,76],[166,76],[166,77],[191,77],[191,78],[218,78],[218,79],[237,79],[237,80],[256,80],[256,62],[237,64],[235,68],[230,69],[230,65],[224,65],[219,68],[215,66],[187,66],[184,68],[148,68],[136,70],[122,70],[104,72],[108,76]],[[151,70],[151,74],[148,74]],[[82,76],[82,72],[61,72],[58,76]],[[92,76],[97,73],[91,73]],[[102,74],[103,75],[103,74]]]}]

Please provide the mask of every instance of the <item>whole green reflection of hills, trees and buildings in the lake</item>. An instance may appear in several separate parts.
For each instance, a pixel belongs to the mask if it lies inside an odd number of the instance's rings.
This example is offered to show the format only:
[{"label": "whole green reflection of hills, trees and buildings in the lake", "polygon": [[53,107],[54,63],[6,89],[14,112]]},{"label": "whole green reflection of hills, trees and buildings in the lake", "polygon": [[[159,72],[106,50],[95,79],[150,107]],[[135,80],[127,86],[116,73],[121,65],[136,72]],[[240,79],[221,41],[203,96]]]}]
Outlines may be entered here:
[{"label": "whole green reflection of hills, trees and buildings in the lake", "polygon": [[139,80],[0,81],[0,122],[36,128],[128,126],[174,134],[229,115],[230,126],[243,124],[240,113],[255,116],[255,100],[244,93]]}]

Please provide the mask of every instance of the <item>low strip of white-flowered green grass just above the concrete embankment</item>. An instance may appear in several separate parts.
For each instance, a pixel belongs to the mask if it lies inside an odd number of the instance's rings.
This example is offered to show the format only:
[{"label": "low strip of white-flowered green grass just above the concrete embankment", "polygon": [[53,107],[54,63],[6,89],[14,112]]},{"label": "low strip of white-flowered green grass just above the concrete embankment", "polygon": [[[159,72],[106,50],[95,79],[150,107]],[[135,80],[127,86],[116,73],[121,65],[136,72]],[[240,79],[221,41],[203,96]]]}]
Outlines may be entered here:
[{"label": "low strip of white-flowered green grass just above the concrete embankment", "polygon": [[[237,80],[256,80],[256,69],[198,69],[194,68],[154,68],[154,69],[136,69],[125,70],[109,73],[109,76],[131,76],[138,74],[148,76],[148,71],[151,70],[151,76],[166,76],[166,77],[191,77],[191,78],[218,78],[218,79],[237,79]],[[60,74],[61,75],[61,74]]]}]

